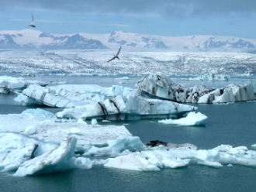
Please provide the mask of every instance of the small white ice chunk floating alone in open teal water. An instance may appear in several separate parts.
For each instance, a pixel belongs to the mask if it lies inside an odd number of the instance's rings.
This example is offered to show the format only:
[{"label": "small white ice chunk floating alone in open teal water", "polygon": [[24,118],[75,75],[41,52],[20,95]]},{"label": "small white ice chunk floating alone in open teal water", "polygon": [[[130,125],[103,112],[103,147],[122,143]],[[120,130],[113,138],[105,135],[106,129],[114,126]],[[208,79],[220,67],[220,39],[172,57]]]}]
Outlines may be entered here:
[{"label": "small white ice chunk floating alone in open teal water", "polygon": [[202,113],[198,112],[189,112],[189,114],[185,118],[179,118],[179,119],[165,119],[160,120],[158,122],[164,123],[164,124],[178,124],[178,125],[205,125],[206,124],[206,115],[203,115]]}]

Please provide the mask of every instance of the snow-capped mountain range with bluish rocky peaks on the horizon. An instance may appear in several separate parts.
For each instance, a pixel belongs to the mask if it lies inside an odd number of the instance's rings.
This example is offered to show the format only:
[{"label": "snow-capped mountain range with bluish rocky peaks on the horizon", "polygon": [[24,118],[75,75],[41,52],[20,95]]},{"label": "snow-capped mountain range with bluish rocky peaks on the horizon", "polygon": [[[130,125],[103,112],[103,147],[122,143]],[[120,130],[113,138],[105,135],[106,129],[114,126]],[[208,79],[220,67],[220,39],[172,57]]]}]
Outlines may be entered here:
[{"label": "snow-capped mountain range with bluish rocky peaks on the horizon", "polygon": [[32,29],[0,31],[0,49],[255,50],[256,40],[234,36],[153,36],[123,31],[111,34],[49,34]]}]

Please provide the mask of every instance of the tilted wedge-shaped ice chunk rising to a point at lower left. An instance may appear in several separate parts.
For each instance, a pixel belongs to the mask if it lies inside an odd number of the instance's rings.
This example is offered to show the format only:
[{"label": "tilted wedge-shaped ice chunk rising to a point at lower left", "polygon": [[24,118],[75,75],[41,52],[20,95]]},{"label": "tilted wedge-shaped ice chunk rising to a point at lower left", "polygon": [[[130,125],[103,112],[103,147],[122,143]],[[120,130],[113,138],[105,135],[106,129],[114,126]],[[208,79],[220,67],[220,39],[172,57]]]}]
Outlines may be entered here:
[{"label": "tilted wedge-shaped ice chunk rising to a point at lower left", "polygon": [[14,176],[33,175],[34,173],[50,173],[58,170],[67,170],[68,160],[74,155],[76,139],[69,138],[61,142],[61,146],[53,149],[41,156],[36,156],[19,166]]}]

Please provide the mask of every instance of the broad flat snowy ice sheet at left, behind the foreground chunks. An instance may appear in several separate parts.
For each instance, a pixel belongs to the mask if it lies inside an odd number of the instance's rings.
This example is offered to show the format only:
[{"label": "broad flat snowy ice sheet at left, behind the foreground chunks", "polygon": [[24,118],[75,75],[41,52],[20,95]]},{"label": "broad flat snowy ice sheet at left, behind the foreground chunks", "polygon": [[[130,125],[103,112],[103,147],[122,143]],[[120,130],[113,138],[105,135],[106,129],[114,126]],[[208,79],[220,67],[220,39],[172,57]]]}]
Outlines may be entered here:
[{"label": "broad flat snowy ice sheet at left, behind the foreground chunks", "polygon": [[29,138],[56,144],[75,136],[78,139],[77,146],[81,149],[85,145],[104,146],[109,140],[117,139],[119,136],[131,136],[123,125],[61,122],[53,113],[43,109],[28,109],[22,114],[0,115],[0,122],[0,132],[16,132]]}]

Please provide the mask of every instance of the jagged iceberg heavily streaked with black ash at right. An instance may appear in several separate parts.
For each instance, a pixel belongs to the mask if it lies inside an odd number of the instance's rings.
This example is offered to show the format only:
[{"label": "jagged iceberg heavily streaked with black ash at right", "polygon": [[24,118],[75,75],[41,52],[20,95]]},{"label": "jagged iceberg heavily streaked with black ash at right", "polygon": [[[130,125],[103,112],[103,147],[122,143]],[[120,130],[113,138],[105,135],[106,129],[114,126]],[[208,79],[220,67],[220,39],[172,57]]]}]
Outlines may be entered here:
[{"label": "jagged iceberg heavily streaked with black ash at right", "polygon": [[171,81],[163,74],[149,74],[137,81],[136,86],[158,98],[181,103],[227,103],[254,100],[254,86],[251,80],[244,87],[237,84],[230,84],[223,88],[208,88],[204,85],[185,87]]}]

